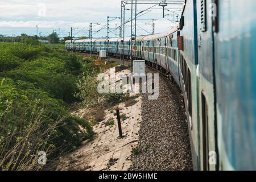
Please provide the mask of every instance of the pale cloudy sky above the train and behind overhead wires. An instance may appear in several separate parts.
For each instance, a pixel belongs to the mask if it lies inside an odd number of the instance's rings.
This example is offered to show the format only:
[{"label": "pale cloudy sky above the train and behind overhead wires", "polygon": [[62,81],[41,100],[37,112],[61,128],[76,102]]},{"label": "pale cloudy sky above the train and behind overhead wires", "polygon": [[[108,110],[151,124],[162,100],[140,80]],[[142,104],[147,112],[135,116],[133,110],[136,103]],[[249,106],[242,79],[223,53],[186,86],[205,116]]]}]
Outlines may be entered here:
[{"label": "pale cloudy sky above the train and behind overhead wires", "polygon": [[[176,7],[181,8],[182,5]],[[146,8],[147,5],[139,5],[138,11]],[[130,5],[127,5],[127,9],[130,9]],[[98,23],[93,26],[93,31],[98,31],[106,26],[107,16],[121,16],[121,0],[0,0],[0,12],[0,34],[2,35],[23,33],[36,35],[36,26],[38,26],[38,35],[41,32],[42,36],[52,33],[53,30],[61,37],[68,36],[71,27],[76,28],[73,31],[74,36],[88,36],[90,23]],[[155,32],[167,31],[175,26],[172,22],[176,21],[176,16],[173,17],[171,13],[163,19],[162,13],[162,10],[152,10],[143,15],[141,20],[138,20],[137,34],[146,35],[152,32],[152,19],[155,19]],[[130,14],[130,11],[126,10],[127,18],[131,16]],[[170,11],[166,11],[166,14],[170,14]],[[111,37],[119,36],[119,30],[115,32],[114,29],[119,24],[119,19],[113,18],[110,22],[110,27],[113,28]],[[126,27],[127,35],[130,34],[129,26],[130,23]],[[102,37],[106,34],[106,30],[103,29],[95,33],[94,37]]]}]

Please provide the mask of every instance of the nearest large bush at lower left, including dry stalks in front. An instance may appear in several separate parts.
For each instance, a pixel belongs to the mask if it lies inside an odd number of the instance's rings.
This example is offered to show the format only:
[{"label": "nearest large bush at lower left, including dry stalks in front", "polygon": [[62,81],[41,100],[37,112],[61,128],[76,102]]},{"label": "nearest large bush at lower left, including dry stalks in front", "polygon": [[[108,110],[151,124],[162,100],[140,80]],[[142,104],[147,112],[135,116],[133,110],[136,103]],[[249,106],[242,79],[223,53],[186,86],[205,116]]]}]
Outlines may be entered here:
[{"label": "nearest large bush at lower left, including dry stalks in front", "polygon": [[36,169],[38,151],[55,159],[93,137],[89,123],[73,117],[63,101],[28,82],[0,83],[0,168]]}]

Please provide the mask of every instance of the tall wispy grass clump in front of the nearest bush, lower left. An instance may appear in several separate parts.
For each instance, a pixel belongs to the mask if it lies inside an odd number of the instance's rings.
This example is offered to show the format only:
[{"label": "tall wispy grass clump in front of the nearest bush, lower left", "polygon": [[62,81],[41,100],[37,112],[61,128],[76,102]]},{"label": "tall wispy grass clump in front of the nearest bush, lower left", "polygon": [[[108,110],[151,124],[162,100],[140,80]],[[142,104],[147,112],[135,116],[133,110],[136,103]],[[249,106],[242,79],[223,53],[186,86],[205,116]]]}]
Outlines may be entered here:
[{"label": "tall wispy grass clump in front of the nearest bush, lower left", "polygon": [[[46,125],[44,120],[45,109],[34,106],[20,108],[11,106],[1,115],[0,129],[0,168],[2,170],[39,170],[44,166],[38,163],[38,152],[45,151],[48,156],[56,150],[51,139],[60,123],[61,118]],[[14,130],[10,131],[9,116],[19,115]],[[27,124],[28,123],[28,124]]]}]

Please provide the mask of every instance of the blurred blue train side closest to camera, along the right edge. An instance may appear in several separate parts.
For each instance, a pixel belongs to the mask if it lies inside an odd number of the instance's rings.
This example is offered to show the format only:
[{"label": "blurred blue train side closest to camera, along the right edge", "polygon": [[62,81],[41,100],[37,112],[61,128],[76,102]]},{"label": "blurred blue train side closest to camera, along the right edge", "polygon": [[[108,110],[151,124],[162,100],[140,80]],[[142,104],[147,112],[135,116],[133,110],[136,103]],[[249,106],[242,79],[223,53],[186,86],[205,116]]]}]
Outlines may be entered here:
[{"label": "blurred blue train side closest to camera, along the right edge", "polygon": [[220,169],[256,170],[256,1],[216,5],[212,19]]}]

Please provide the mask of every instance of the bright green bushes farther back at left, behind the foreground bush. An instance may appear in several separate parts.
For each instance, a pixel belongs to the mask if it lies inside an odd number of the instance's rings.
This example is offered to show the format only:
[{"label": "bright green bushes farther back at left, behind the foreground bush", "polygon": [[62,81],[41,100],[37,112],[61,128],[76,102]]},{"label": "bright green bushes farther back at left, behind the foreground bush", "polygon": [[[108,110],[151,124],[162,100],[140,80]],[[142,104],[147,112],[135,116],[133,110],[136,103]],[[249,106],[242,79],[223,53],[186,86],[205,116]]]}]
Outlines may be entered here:
[{"label": "bright green bushes farther back at left, behind the foreground bush", "polygon": [[[45,52],[46,47],[7,44],[7,53],[0,53],[0,77],[31,82],[53,97],[68,104],[79,101],[77,76],[83,71],[79,57],[69,53]],[[0,43],[0,48],[3,45]],[[9,49],[12,49],[10,51]],[[42,56],[44,55],[44,56]],[[18,57],[16,57],[18,56]]]}]

